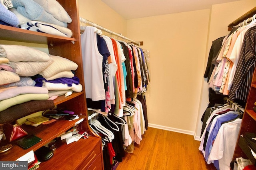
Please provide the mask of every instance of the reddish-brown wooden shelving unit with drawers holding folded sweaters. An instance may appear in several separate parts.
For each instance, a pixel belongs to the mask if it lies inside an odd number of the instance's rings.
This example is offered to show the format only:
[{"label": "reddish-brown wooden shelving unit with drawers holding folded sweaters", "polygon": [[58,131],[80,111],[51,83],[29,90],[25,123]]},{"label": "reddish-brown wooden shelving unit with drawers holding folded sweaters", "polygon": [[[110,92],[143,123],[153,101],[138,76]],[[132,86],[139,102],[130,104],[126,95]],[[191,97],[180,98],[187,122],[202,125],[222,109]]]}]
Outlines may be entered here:
[{"label": "reddish-brown wooden shelving unit with drawers holding folded sweaters", "polygon": [[[85,89],[80,44],[78,0],[58,0],[58,2],[72,18],[72,23],[68,23],[68,28],[73,32],[71,38],[0,25],[0,40],[12,41],[13,45],[15,45],[16,42],[48,45],[48,50],[51,55],[65,57],[78,64],[75,76],[80,79],[80,84],[82,84],[83,89]],[[49,143],[52,139],[56,139],[56,137],[59,137],[76,125],[78,120],[83,119],[78,126],[86,130],[90,134],[90,137],[88,139],[80,139],[69,145],[66,144],[66,140],[57,140],[57,149],[54,152],[54,156],[50,160],[42,162],[39,165],[39,169],[104,169],[101,138],[92,133],[87,121],[88,113],[85,91],[73,92],[73,94],[68,97],[60,96],[54,100],[54,104],[57,107],[64,107],[67,110],[74,111],[80,118],[74,121],[58,120],[48,125],[39,125],[38,127],[22,125],[22,129],[28,132],[28,134],[34,134],[40,137],[42,141],[28,149],[22,149],[15,143],[12,143],[14,145],[12,149],[1,153],[0,160],[15,161],[27,152],[31,150],[35,151]],[[1,145],[4,145],[4,143],[1,142],[0,146]]]}]

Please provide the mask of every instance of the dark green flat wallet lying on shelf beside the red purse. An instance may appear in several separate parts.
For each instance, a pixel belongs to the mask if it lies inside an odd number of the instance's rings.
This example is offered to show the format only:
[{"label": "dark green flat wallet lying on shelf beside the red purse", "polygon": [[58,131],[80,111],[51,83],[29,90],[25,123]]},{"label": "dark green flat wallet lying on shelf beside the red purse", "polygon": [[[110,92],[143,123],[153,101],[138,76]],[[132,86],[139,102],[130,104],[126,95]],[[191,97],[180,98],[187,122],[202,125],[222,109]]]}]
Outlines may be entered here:
[{"label": "dark green flat wallet lying on shelf beside the red purse", "polygon": [[16,144],[24,149],[28,149],[29,147],[32,147],[36,143],[42,141],[41,138],[35,136],[35,135],[28,135],[22,139],[19,139],[16,141]]}]

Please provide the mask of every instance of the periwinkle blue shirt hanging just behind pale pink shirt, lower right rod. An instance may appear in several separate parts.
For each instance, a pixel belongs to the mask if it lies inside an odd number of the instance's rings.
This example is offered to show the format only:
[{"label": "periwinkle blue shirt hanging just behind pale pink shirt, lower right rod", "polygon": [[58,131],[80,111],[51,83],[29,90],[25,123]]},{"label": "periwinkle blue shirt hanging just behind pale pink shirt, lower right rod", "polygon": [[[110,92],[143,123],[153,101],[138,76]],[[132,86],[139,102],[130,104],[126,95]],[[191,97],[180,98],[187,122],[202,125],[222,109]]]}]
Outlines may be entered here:
[{"label": "periwinkle blue shirt hanging just behind pale pink shirt, lower right rod", "polygon": [[205,147],[205,160],[208,160],[208,156],[212,150],[212,144],[218,134],[218,131],[221,127],[221,124],[225,121],[230,121],[232,119],[235,119],[236,117],[238,117],[238,112],[236,111],[229,111],[227,113],[224,113],[222,115],[219,115],[217,117],[215,117],[214,119],[216,119],[216,121],[212,121],[212,131],[209,132],[208,135],[208,139],[207,139],[207,143],[206,143],[206,147]]}]

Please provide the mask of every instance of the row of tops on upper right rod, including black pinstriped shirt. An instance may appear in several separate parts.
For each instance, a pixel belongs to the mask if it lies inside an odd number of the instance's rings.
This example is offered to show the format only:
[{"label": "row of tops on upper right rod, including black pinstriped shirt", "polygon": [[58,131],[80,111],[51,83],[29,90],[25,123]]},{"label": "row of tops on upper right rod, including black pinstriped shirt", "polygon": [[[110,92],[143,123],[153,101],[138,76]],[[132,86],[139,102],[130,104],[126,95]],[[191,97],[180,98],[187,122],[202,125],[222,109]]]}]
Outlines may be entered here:
[{"label": "row of tops on upper right rod, including black pinstriped shirt", "polygon": [[[253,52],[255,27],[254,20],[248,25],[232,30],[224,37],[218,55],[213,56],[212,63],[216,65],[209,78],[211,70],[209,61],[212,57],[210,55],[214,53],[212,46],[204,77],[208,77],[209,88],[216,93],[228,95],[232,100],[246,102],[256,62],[255,52]],[[216,44],[221,39],[217,39]]]}]

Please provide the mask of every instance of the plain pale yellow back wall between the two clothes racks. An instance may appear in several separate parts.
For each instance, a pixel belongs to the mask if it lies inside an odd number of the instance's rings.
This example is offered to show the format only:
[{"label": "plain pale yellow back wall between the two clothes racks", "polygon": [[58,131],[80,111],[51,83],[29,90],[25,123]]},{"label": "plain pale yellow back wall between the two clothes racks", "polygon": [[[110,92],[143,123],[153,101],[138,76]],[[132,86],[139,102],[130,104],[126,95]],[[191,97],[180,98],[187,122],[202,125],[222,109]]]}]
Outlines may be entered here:
[{"label": "plain pale yellow back wall between the two clothes racks", "polygon": [[194,134],[209,16],[198,10],[127,21],[127,36],[150,51],[150,126]]}]

